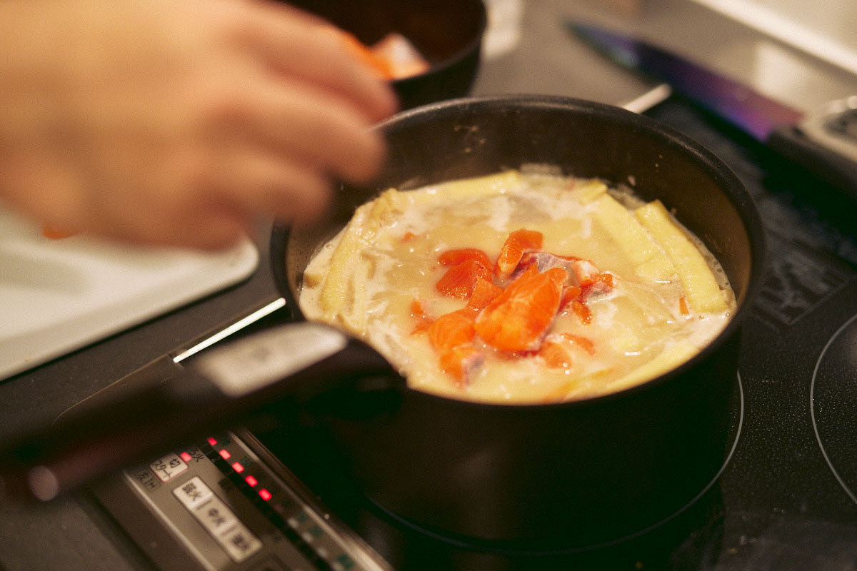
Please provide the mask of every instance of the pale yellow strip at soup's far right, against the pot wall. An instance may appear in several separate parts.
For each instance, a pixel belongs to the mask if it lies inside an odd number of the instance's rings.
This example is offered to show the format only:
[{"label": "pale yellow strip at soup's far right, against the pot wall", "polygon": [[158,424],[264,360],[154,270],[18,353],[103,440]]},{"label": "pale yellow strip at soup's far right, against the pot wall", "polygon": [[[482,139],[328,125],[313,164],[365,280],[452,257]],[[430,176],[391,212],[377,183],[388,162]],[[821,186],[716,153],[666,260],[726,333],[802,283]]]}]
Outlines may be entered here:
[{"label": "pale yellow strip at soup's far right, against the pot wall", "polygon": [[679,273],[687,300],[695,312],[725,312],[725,298],[702,253],[676,226],[660,200],[640,206],[635,216],[661,245]]}]

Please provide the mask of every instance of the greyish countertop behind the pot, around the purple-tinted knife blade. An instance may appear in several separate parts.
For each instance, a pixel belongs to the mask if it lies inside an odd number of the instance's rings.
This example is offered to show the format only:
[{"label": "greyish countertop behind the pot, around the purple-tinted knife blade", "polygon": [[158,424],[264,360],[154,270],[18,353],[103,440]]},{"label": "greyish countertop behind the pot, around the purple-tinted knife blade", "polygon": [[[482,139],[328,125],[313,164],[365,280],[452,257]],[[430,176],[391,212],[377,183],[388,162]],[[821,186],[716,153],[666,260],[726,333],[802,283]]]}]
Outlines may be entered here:
[{"label": "greyish countertop behind the pot, around the purple-tinted knife blade", "polygon": [[[812,5],[824,9],[833,1]],[[857,93],[857,74],[722,11],[692,0],[638,0],[638,5],[623,10],[606,0],[524,2],[524,33],[516,49],[488,59],[476,92],[540,92],[621,105],[655,86],[599,62],[582,42],[569,39],[564,22],[578,20],[638,36],[803,110],[820,110]]]}]

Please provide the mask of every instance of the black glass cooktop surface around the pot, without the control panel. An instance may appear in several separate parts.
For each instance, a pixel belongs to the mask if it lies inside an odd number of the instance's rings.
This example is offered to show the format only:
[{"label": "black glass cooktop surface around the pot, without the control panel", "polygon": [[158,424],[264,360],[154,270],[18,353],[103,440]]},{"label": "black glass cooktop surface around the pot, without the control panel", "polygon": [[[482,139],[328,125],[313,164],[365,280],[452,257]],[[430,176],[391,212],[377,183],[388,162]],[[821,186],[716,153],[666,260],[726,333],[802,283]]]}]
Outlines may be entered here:
[{"label": "black glass cooktop surface around the pot, without the control panel", "polygon": [[[686,101],[669,99],[648,115],[722,158],[756,199],[765,224],[767,269],[741,331],[722,472],[683,508],[625,537],[524,549],[417,529],[371,503],[341,467],[314,464],[311,439],[294,425],[254,425],[248,445],[257,455],[296,473],[393,568],[857,569],[857,205]],[[287,313],[273,312],[248,330],[276,324]],[[210,452],[220,462],[223,450]],[[228,479],[247,488],[244,473],[228,473],[235,466],[230,461],[222,468],[227,477],[214,482],[226,491],[233,486]],[[255,497],[253,482],[247,491]],[[137,543],[146,550],[145,541]],[[315,557],[317,568],[338,568],[321,559]],[[256,569],[255,560],[247,561]],[[234,563],[226,568],[237,569]]]}]

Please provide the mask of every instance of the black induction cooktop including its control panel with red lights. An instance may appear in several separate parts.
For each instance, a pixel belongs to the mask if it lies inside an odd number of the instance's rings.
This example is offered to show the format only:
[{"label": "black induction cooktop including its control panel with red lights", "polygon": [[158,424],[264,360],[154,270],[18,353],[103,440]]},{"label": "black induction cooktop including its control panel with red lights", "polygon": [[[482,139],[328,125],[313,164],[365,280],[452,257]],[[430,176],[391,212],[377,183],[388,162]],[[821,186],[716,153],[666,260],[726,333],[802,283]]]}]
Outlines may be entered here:
[{"label": "black induction cooktop including its control panel with red lights", "polygon": [[[203,435],[95,497],[165,569],[857,568],[857,205],[683,100],[648,114],[739,175],[769,250],[742,328],[728,454],[674,514],[599,545],[472,544],[387,514],[336,467],[308,468],[308,441],[271,419]],[[180,364],[289,315],[273,300],[165,359]]]}]

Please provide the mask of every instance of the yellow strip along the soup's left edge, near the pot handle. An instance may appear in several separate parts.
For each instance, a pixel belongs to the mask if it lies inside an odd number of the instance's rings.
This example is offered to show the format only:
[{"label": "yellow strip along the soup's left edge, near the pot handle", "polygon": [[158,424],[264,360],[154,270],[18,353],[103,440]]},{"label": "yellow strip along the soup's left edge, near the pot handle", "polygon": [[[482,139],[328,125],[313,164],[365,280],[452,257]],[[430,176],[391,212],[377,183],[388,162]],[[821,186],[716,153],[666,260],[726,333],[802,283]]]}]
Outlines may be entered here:
[{"label": "yellow strip along the soup's left edge, near the pot handle", "polygon": [[333,251],[321,286],[319,300],[325,320],[343,324],[352,333],[365,330],[366,283],[373,263],[362,252],[375,242],[381,224],[393,212],[404,210],[406,201],[391,188],[357,209]]}]

